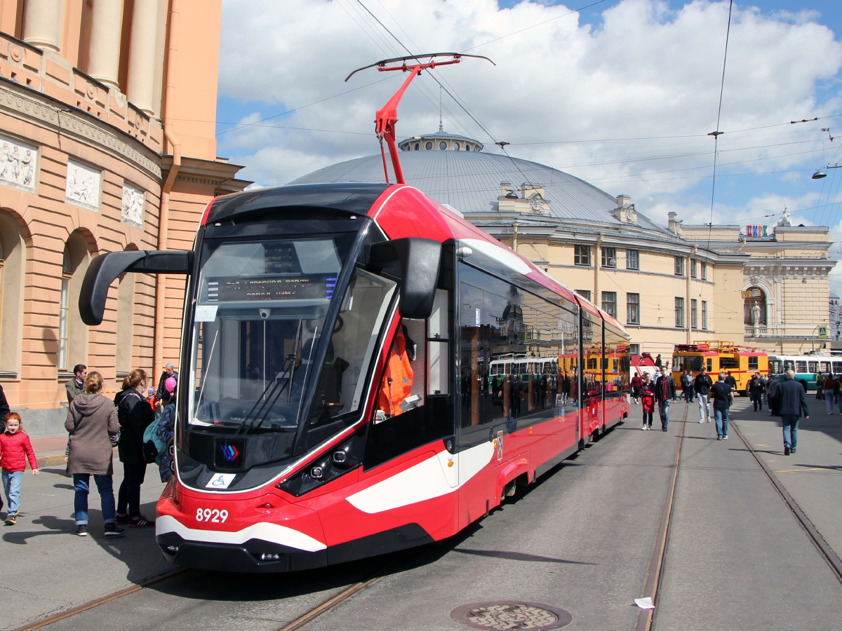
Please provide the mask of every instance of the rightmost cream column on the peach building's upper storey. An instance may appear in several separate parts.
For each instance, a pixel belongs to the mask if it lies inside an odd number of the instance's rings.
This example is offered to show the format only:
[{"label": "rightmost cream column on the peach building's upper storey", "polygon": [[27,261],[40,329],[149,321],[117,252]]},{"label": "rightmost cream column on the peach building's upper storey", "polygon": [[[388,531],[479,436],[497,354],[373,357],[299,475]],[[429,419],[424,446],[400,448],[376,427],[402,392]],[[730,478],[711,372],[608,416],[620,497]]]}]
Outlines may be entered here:
[{"label": "rightmost cream column on the peach building's upper storey", "polygon": [[131,15],[128,97],[131,103],[152,116],[155,95],[155,46],[158,0],[135,0]]}]

